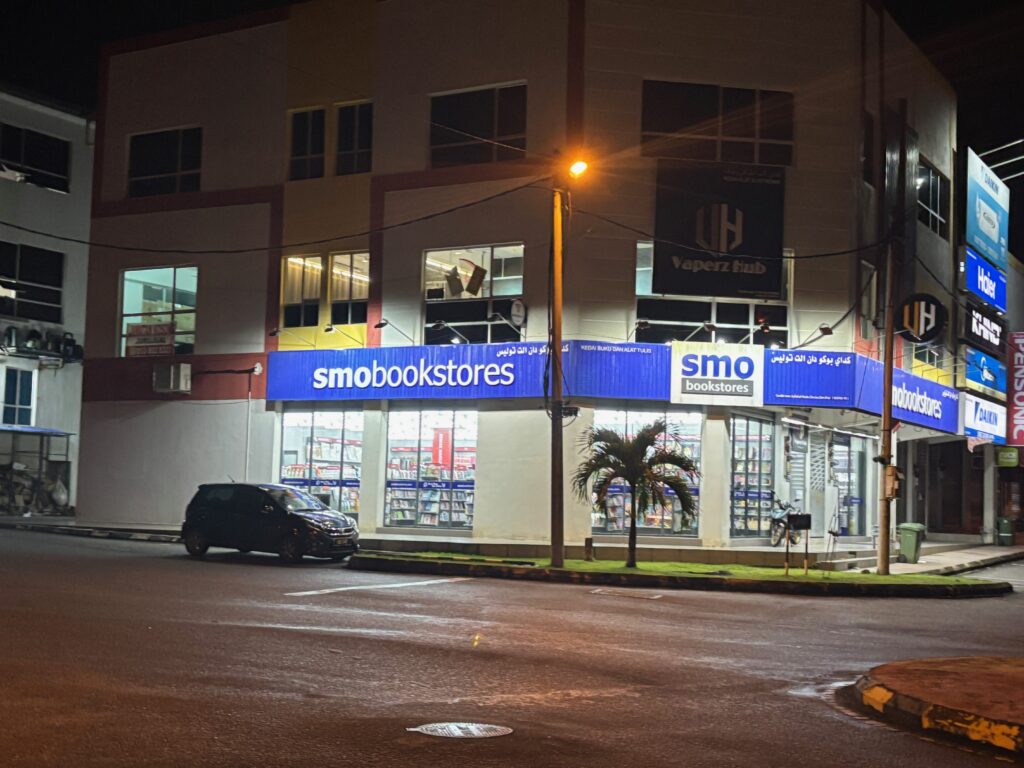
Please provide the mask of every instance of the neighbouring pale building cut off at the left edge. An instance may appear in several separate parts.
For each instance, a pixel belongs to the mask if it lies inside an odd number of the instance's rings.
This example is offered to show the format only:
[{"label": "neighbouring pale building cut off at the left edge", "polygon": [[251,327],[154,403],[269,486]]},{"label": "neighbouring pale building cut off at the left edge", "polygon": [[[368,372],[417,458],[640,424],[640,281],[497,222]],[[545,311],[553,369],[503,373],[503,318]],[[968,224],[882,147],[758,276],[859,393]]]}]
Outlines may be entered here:
[{"label": "neighbouring pale building cut off at the left edge", "polygon": [[[6,514],[62,512],[77,503],[92,129],[68,108],[0,93]],[[63,492],[51,497],[58,485]]]}]

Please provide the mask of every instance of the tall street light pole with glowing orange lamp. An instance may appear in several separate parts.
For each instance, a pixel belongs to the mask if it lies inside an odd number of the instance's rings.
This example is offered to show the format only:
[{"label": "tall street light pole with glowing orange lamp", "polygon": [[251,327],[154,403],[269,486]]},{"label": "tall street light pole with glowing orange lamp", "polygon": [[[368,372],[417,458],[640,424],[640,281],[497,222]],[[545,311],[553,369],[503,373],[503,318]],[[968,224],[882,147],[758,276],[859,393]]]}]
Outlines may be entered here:
[{"label": "tall street light pole with glowing orange lamp", "polygon": [[[558,161],[556,160],[556,163]],[[568,173],[556,165],[552,176],[551,217],[551,335],[548,356],[551,360],[551,567],[565,564],[565,495],[562,467],[562,262],[564,228],[562,212],[569,205],[568,178],[579,178],[587,164],[578,160]]]}]

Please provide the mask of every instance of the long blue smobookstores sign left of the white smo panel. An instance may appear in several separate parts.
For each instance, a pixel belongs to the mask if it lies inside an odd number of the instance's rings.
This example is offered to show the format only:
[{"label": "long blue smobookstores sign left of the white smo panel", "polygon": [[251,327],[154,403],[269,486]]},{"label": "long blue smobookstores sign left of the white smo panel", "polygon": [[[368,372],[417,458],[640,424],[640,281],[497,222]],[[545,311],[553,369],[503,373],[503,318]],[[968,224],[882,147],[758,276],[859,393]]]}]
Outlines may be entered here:
[{"label": "long blue smobookstores sign left of the white smo panel", "polygon": [[[663,344],[570,341],[566,394],[668,400],[671,350]],[[547,345],[446,344],[271,352],[271,400],[543,397]]]}]

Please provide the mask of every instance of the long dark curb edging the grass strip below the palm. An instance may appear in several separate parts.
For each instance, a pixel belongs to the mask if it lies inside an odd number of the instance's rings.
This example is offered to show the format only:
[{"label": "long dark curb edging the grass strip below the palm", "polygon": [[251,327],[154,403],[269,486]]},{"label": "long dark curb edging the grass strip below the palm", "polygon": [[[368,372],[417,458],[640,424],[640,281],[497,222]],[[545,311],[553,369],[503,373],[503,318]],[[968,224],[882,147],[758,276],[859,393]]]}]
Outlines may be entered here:
[{"label": "long dark curb edging the grass strip below the palm", "polygon": [[649,587],[654,589],[690,589],[712,592],[756,592],[815,597],[998,597],[1013,592],[1006,582],[986,584],[856,584],[851,582],[787,582],[781,579],[736,579],[729,577],[682,577],[657,573],[581,572],[563,568],[500,565],[490,563],[401,558],[356,554],[348,559],[354,570],[392,573],[428,573],[437,575],[522,579],[558,584],[590,584],[601,587]]}]

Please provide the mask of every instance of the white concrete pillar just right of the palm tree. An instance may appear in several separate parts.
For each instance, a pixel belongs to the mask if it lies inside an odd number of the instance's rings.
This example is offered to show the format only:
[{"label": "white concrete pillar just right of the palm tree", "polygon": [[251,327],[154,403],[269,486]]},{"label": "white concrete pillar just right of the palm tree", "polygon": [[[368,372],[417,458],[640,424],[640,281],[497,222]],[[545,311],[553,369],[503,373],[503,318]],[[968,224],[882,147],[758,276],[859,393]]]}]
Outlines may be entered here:
[{"label": "white concrete pillar just right of the palm tree", "polygon": [[728,413],[709,409],[700,437],[700,525],[705,547],[729,544],[732,442]]}]

